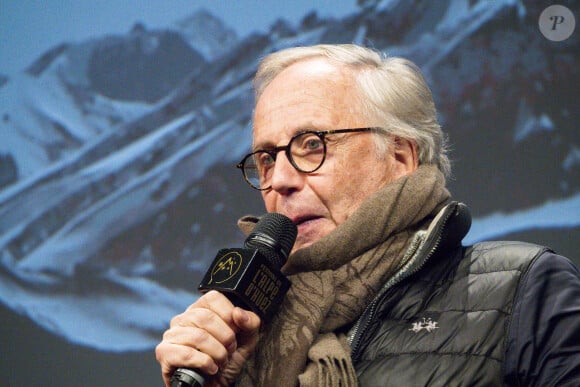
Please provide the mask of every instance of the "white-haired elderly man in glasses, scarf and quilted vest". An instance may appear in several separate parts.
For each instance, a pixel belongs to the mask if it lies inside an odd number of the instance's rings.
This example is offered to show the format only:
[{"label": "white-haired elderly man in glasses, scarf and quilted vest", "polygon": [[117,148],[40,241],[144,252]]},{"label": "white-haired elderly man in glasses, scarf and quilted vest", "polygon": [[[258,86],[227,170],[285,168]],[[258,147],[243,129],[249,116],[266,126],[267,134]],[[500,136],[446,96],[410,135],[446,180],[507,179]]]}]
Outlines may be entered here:
[{"label": "white-haired elderly man in glasses, scarf and quilted vest", "polygon": [[[297,47],[255,78],[239,167],[298,236],[279,313],[212,291],[156,349],[209,385],[577,385],[580,275],[524,243],[461,245],[465,205],[431,92],[409,61],[354,45]],[[241,220],[251,228],[252,218]]]}]

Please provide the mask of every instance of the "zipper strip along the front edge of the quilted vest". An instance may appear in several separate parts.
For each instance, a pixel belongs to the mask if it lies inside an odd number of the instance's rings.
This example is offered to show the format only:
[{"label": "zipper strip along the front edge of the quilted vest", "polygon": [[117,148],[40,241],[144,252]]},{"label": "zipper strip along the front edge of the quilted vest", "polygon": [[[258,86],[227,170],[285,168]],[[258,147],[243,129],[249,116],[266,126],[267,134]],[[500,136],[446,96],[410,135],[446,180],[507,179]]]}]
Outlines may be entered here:
[{"label": "zipper strip along the front edge of the quilted vest", "polygon": [[[353,363],[358,361],[358,358],[360,356],[358,350],[362,341],[363,333],[367,330],[370,322],[375,317],[379,301],[382,301],[382,299],[385,297],[389,289],[393,288],[395,285],[399,284],[404,279],[409,278],[410,276],[421,270],[421,268],[425,266],[425,264],[433,256],[433,254],[435,254],[435,251],[437,251],[437,248],[441,243],[443,229],[445,228],[445,225],[447,224],[447,221],[449,220],[451,215],[456,213],[457,207],[458,203],[455,202],[453,203],[453,205],[450,205],[447,208],[445,208],[443,210],[444,213],[442,214],[442,219],[436,222],[435,229],[431,230],[430,232],[428,231],[426,233],[424,241],[427,241],[429,239],[429,236],[433,235],[433,233],[437,235],[437,239],[433,242],[431,249],[425,256],[425,258],[421,260],[418,264],[416,264],[416,259],[411,259],[405,265],[405,267],[403,267],[399,271],[398,274],[395,274],[395,276],[391,280],[387,281],[387,283],[385,284],[385,286],[383,286],[379,294],[371,301],[369,305],[367,305],[361,317],[357,320],[354,327],[351,329],[351,334],[349,334],[349,337],[347,339],[351,347],[351,357]],[[421,250],[421,246],[419,246],[419,250]]]}]

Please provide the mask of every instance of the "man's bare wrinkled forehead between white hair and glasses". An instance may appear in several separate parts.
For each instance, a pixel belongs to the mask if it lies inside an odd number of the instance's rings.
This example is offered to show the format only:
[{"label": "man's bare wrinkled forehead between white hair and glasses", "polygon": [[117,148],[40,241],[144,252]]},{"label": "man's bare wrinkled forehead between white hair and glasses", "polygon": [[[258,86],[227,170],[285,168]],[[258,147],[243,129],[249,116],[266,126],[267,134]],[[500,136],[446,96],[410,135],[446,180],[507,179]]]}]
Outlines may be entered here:
[{"label": "man's bare wrinkled forehead between white hair and glasses", "polygon": [[[323,58],[295,63],[264,89],[253,117],[253,147],[279,145],[307,130],[364,124],[354,77]],[[353,126],[354,125],[354,126]]]}]

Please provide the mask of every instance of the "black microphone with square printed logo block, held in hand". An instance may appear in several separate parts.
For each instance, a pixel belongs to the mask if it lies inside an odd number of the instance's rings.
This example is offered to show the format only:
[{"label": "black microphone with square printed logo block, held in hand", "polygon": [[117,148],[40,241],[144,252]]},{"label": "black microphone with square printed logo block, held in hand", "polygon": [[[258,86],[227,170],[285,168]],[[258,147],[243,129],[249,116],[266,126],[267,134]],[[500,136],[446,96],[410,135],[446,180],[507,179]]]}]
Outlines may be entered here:
[{"label": "black microphone with square printed logo block, held in hand", "polygon": [[[264,215],[244,242],[244,248],[218,251],[198,289],[217,290],[234,305],[255,312],[270,321],[290,281],[280,272],[298,233],[292,221],[277,213]],[[171,376],[171,387],[201,387],[205,377],[197,370],[178,368]]]}]

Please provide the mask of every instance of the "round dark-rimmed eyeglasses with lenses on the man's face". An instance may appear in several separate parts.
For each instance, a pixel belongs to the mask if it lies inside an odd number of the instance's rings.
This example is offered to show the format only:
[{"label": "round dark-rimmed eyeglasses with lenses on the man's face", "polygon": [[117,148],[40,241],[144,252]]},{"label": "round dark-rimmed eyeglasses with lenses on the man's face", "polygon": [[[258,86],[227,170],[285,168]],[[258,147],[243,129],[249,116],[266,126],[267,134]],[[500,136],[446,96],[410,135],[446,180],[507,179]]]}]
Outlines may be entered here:
[{"label": "round dark-rimmed eyeglasses with lenses on the man's face", "polygon": [[260,191],[272,188],[272,174],[278,152],[284,151],[290,164],[299,172],[312,173],[318,170],[326,159],[326,136],[329,134],[370,132],[379,128],[335,129],[306,131],[295,135],[288,145],[271,149],[259,149],[247,154],[236,167],[242,170],[244,179]]}]

